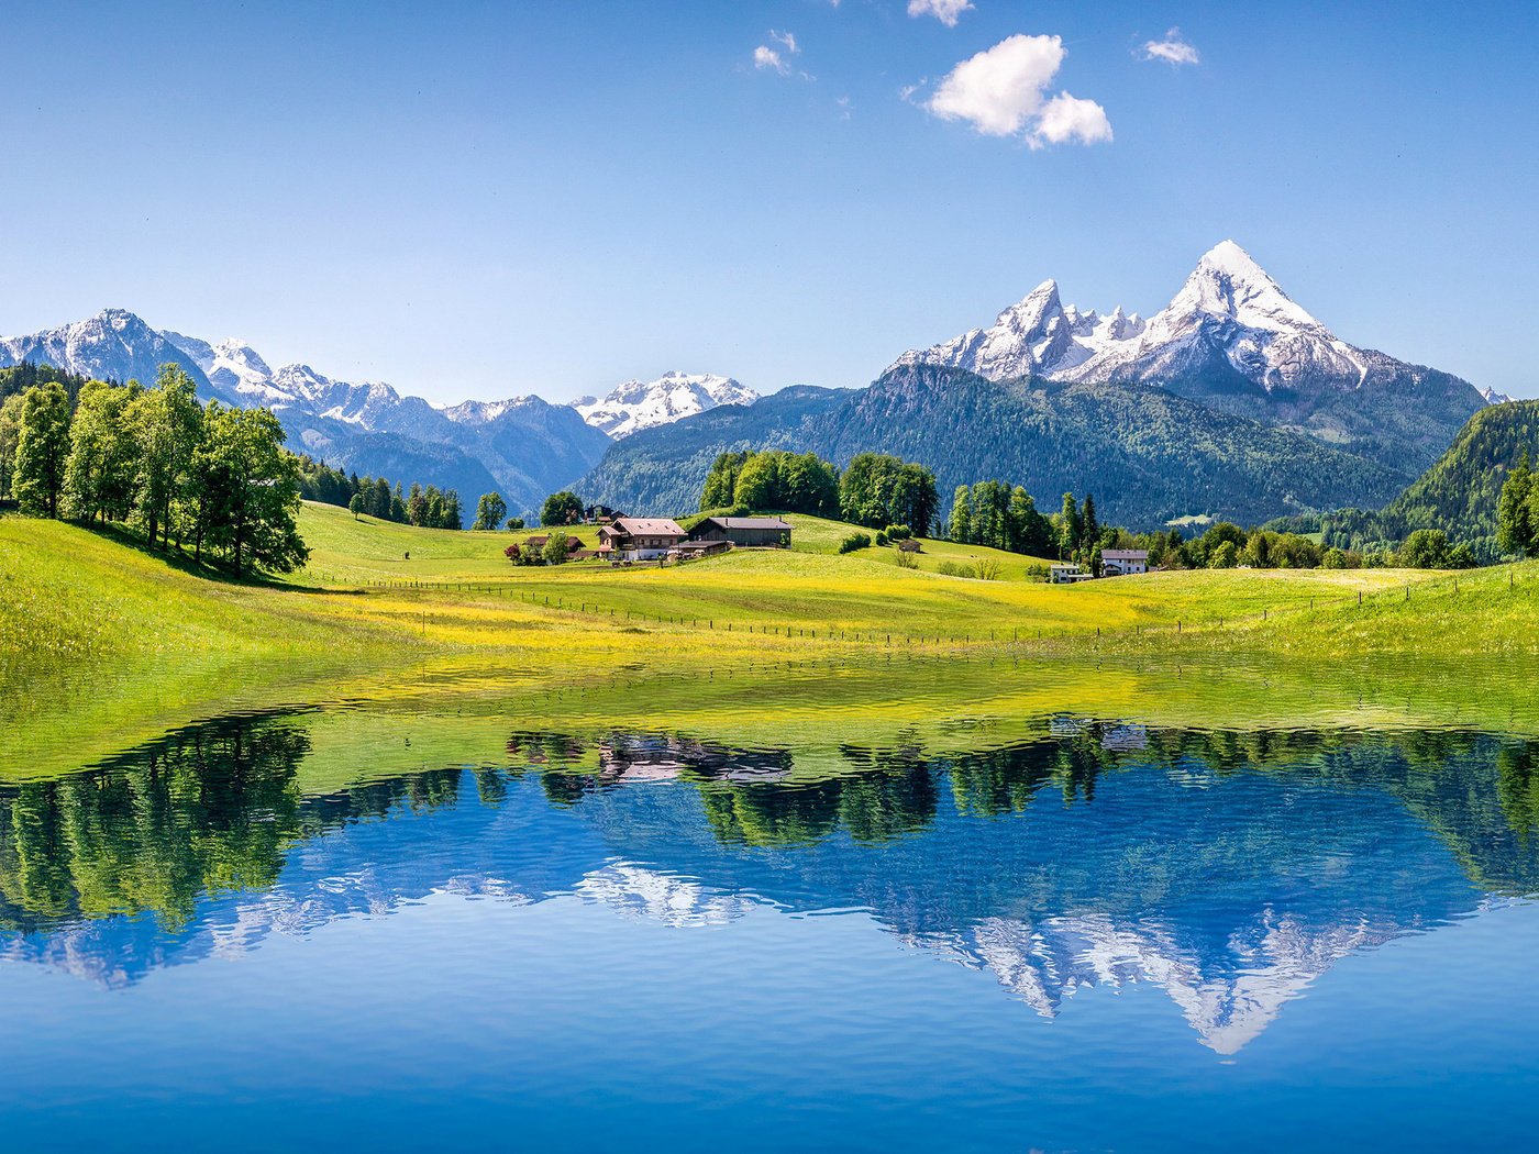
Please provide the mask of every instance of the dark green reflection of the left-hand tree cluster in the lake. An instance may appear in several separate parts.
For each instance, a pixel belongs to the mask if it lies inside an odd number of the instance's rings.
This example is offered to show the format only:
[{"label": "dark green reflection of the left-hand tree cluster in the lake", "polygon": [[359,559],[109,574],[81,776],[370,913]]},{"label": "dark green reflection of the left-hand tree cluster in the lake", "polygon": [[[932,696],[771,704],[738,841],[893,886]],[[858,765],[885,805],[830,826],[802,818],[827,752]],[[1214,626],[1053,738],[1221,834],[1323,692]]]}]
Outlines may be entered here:
[{"label": "dark green reflection of the left-hand tree cluster in the lake", "polygon": [[194,726],[100,769],[0,789],[0,928],[151,912],[186,925],[205,894],[271,886],[291,845],[352,820],[456,805],[459,769],[305,797],[289,719]]}]

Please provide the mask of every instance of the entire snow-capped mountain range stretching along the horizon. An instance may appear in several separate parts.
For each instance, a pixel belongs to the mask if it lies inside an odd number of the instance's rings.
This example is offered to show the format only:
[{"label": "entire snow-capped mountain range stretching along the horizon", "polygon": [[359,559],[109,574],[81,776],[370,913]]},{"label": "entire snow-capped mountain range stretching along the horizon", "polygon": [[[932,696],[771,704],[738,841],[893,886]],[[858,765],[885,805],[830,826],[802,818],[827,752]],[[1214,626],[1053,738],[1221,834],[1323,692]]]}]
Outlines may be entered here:
[{"label": "entire snow-capped mountain range stretching along the horizon", "polygon": [[1231,240],[1147,320],[1065,305],[1048,280],[988,328],[903,352],[865,389],[760,399],[729,377],[668,372],[573,405],[439,408],[308,365],[274,369],[240,342],[157,331],[122,309],[0,339],[0,366],[20,360],[115,380],[149,380],[169,360],[205,397],[271,406],[291,448],[336,468],[468,500],[497,489],[516,511],[576,485],[588,500],[669,515],[694,508],[716,454],[754,448],[837,465],[897,452],[931,466],[943,492],[986,477],[1048,505],[1094,492],[1134,528],[1376,508],[1471,414],[1507,400],[1340,340]]}]

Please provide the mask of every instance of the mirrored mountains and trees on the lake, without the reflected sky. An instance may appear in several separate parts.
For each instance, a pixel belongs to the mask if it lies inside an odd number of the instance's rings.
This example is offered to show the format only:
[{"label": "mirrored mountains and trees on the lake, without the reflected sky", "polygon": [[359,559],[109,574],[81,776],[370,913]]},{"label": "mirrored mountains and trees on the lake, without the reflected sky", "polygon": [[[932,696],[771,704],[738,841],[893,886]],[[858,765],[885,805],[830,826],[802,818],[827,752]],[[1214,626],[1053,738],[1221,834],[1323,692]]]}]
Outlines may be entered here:
[{"label": "mirrored mountains and trees on the lake, without the reflected sky", "polygon": [[1059,719],[968,757],[851,746],[811,783],[785,749],[519,734],[506,769],[325,797],[306,754],[303,719],[239,719],[0,789],[0,957],[122,985],[442,891],[677,926],[865,908],[1047,1016],[1156,983],[1233,1052],[1353,951],[1539,889],[1533,755],[1461,734]]}]

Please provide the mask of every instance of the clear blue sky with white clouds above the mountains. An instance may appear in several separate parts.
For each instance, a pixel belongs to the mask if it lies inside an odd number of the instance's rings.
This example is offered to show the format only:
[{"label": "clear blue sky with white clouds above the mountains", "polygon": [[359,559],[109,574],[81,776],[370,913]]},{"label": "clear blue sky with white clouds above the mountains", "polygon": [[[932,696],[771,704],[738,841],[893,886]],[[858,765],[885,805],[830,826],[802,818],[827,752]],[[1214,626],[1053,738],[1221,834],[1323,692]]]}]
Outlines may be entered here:
[{"label": "clear blue sky with white clouds above the mountains", "polygon": [[437,402],[860,386],[1239,242],[1539,395],[1539,3],[0,0],[0,332],[108,306]]}]

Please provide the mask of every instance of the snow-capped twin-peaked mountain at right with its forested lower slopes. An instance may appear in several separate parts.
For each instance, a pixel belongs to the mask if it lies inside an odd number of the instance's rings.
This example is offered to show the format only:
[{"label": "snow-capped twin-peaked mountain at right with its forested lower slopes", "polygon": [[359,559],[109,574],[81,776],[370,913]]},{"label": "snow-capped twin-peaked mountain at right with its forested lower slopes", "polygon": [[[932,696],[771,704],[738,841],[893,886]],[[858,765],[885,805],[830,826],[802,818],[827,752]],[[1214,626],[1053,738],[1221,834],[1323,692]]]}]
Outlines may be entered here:
[{"label": "snow-capped twin-peaked mountain at right with its forested lower slopes", "polygon": [[885,451],[931,466],[943,492],[997,477],[1051,505],[1094,492],[1136,528],[1254,523],[1384,505],[1507,399],[1348,345],[1227,240],[1148,320],[1063,305],[1050,280],[990,328],[902,354],[866,389],[771,400],[637,432],[583,492],[677,511],[722,451],[814,449],[840,465]]}]

